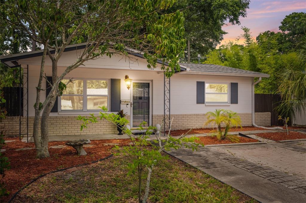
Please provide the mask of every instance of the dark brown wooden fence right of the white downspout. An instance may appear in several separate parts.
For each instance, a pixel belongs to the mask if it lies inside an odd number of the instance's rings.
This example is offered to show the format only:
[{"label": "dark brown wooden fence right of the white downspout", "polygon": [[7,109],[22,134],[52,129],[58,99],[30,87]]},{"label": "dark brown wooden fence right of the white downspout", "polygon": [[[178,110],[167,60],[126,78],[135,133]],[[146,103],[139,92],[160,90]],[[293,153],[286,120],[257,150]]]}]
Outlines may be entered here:
[{"label": "dark brown wooden fence right of the white downspout", "polygon": [[[278,120],[278,113],[275,111],[280,101],[279,94],[255,94],[255,112],[271,112],[271,125],[283,126],[284,123]],[[291,125],[291,119],[288,125]]]}]

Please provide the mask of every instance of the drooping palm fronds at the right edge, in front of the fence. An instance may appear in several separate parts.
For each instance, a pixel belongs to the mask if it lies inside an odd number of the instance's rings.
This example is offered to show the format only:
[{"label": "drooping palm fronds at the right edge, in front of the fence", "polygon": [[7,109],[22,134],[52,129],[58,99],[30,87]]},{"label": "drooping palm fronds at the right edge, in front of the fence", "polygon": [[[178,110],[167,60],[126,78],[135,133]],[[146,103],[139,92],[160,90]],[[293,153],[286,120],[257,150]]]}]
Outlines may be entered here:
[{"label": "drooping palm fronds at the right edge, in front of the fence", "polygon": [[296,112],[306,113],[306,36],[297,51],[296,62],[279,72],[278,91],[282,102],[277,110],[282,117],[295,118]]}]

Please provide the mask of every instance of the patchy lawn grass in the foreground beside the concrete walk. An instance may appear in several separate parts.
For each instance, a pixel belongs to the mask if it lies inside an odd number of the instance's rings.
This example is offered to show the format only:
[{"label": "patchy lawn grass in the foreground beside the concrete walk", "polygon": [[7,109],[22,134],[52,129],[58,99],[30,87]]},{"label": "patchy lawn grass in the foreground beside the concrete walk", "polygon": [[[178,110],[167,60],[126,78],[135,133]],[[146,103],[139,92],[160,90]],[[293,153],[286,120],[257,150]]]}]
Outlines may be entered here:
[{"label": "patchy lawn grass in the foreground beside the concrete walk", "polygon": [[[138,202],[137,174],[126,175],[130,160],[116,156],[73,173],[50,174],[13,202]],[[153,169],[151,180],[148,202],[256,202],[172,157]]]}]

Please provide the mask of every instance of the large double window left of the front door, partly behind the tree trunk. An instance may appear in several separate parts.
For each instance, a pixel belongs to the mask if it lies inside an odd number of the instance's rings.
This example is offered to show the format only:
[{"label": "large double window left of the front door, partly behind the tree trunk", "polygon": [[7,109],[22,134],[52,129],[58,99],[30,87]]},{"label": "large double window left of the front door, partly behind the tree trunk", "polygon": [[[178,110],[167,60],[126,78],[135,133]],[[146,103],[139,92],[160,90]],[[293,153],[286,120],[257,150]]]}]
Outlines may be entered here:
[{"label": "large double window left of the front door, partly behind the tree trunk", "polygon": [[67,85],[61,97],[61,110],[99,110],[99,106],[107,108],[107,104],[108,80],[76,79]]}]

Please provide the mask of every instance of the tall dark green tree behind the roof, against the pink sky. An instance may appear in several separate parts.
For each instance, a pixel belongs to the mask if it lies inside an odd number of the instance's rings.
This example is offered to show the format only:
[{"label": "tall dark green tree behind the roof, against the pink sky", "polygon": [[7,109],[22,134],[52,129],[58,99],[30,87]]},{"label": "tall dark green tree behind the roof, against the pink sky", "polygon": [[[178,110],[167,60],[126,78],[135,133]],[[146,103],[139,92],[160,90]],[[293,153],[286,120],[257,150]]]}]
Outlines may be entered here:
[{"label": "tall dark green tree behind the roof, against the pink sky", "polygon": [[[223,40],[226,23],[240,24],[247,15],[249,0],[180,0],[167,12],[180,10],[185,17],[185,39],[190,41],[191,58],[206,55]],[[187,61],[187,50],[184,58]]]}]

